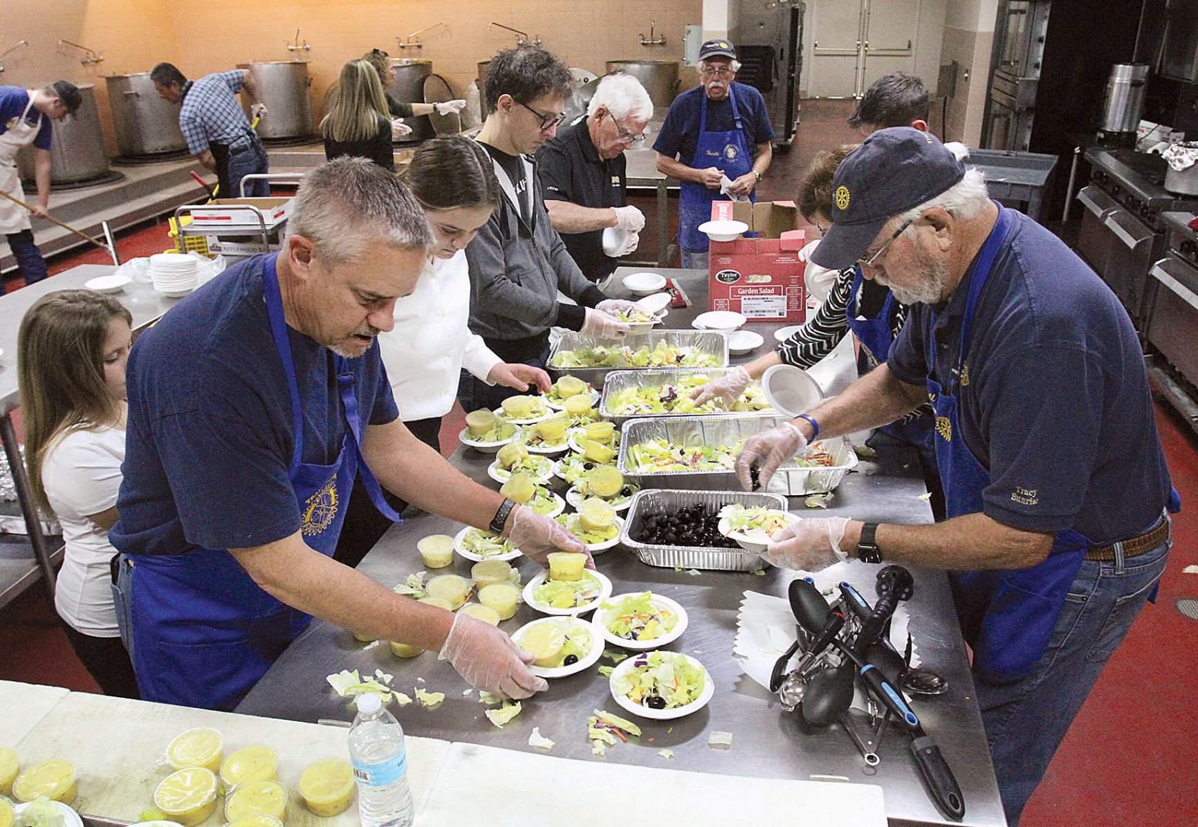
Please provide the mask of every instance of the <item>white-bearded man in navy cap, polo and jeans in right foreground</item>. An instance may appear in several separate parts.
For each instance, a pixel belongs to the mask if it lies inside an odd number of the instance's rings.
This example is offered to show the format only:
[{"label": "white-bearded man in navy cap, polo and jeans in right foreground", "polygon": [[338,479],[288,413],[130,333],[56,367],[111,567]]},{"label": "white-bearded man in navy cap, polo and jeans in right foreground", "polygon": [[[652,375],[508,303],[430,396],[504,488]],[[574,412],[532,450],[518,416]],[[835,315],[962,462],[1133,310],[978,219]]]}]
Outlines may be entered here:
[{"label": "white-bearded man in navy cap, polo and jeans in right foreground", "polygon": [[[986,195],[933,135],[870,135],[833,181],[812,259],[854,262],[912,316],[885,364],[749,439],[746,487],[816,438],[936,414],[944,522],[803,519],[770,563],[857,557],[949,571],[1008,822],[1155,592],[1176,510],[1136,330],[1064,243]],[[946,756],[952,762],[952,756]]]}]

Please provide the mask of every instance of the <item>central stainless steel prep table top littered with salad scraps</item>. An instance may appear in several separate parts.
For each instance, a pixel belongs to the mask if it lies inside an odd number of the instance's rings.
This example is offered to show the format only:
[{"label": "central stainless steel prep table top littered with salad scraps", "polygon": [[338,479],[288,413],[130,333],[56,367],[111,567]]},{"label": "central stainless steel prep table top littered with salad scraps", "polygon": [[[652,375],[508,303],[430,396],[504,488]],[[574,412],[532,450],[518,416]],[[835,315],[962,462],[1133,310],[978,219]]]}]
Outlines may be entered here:
[{"label": "central stainless steel prep table top littered with salad scraps", "polygon": [[[613,284],[619,285],[619,276],[629,272],[631,268],[618,269]],[[689,326],[698,312],[706,310],[706,270],[659,272],[679,279],[695,303],[684,310],[671,310],[667,316],[670,327]],[[744,363],[767,352],[766,348],[774,343],[773,332],[781,324],[755,323],[751,327],[767,339],[767,343],[749,357],[733,359],[734,363]],[[486,466],[492,460],[494,455],[459,448],[450,462],[472,479],[494,486],[486,476]],[[884,449],[876,463],[863,463],[860,468],[864,473],[849,475],[837,488],[828,513],[877,522],[931,521],[927,503],[920,499],[924,484],[914,451],[894,445],[893,450]],[[801,509],[795,500],[792,499],[792,507]],[[394,585],[407,574],[423,570],[416,551],[419,537],[452,535],[460,528],[459,523],[435,515],[411,517],[388,530],[358,568],[385,585]],[[640,742],[621,743],[609,749],[604,759],[594,759],[591,754],[586,718],[595,709],[617,713],[621,710],[611,698],[607,680],[593,668],[550,681],[545,693],[526,701],[522,713],[500,730],[483,714],[488,707],[478,703],[478,693],[464,695],[466,683],[448,663],[438,662],[435,653],[398,659],[386,643],[367,647],[349,632],[320,620],[313,621],[308,631],[291,644],[237,711],[308,722],[319,718],[347,720],[352,716],[350,706],[332,694],[325,676],[341,669],[359,669],[363,675],[382,669],[394,675],[394,686],[409,694],[417,686],[446,693],[444,704],[438,710],[424,710],[416,704],[400,710],[405,731],[411,735],[537,752],[527,746],[527,738],[532,728],[539,726],[544,736],[557,742],[551,754],[562,758],[769,778],[842,777],[852,782],[881,784],[885,790],[891,823],[951,823],[940,816],[925,795],[904,735],[891,728],[878,749],[881,765],[870,770],[839,724],[823,731],[801,732],[795,714],[782,712],[769,692],[740,674],[739,664],[732,658],[732,643],[743,592],[785,595],[788,572],[768,568],[764,576],[727,572],[691,576],[685,571],[647,566],[619,547],[597,555],[595,561],[599,570],[611,577],[617,594],[653,589],[686,608],[690,625],[671,649],[696,655],[716,685],[715,697],[706,709],[673,722],[637,720],[645,730]],[[527,560],[519,565],[526,583],[537,566]],[[450,571],[468,577],[470,564],[455,557],[452,567],[431,573]],[[927,731],[939,741],[956,773],[966,798],[963,823],[1005,825],[948,580],[939,572],[915,570],[914,573],[915,597],[908,608],[918,651],[924,665],[949,680],[945,694],[927,700],[916,699],[915,710]],[[539,616],[533,609],[520,606],[516,616],[502,627],[510,634]],[[423,682],[417,679],[423,679]],[[708,748],[707,736],[712,730],[732,732],[732,748]],[[664,762],[658,755],[662,748],[674,750],[672,761]]]}]

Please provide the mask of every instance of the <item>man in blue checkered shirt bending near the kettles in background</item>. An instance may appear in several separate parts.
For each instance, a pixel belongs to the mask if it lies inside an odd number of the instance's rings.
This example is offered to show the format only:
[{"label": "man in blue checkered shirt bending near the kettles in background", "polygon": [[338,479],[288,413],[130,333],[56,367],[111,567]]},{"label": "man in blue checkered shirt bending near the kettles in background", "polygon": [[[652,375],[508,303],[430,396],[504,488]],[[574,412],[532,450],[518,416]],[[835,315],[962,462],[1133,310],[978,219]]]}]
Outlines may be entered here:
[{"label": "man in blue checkered shirt bending near the kettles in background", "polygon": [[[180,104],[179,128],[187,148],[206,169],[217,174],[220,197],[241,197],[241,180],[267,171],[266,148],[246,118],[237,92],[249,96],[250,113],[266,115],[258,99],[258,87],[248,69],[206,74],[192,81],[171,63],[158,63],[150,73],[155,89],[164,101]],[[246,197],[266,197],[271,187],[253,181]]]}]

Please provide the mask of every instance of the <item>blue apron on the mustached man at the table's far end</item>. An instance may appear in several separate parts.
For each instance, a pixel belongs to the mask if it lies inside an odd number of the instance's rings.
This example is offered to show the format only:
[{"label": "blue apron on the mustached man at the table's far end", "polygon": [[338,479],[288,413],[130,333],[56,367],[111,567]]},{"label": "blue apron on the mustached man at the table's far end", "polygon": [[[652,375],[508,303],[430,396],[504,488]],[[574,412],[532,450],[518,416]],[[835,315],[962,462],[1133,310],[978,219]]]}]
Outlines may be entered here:
[{"label": "blue apron on the mustached man at the table's far end", "polygon": [[[740,113],[737,110],[737,98],[732,93],[734,83],[728,84],[728,101],[732,102],[732,121],[736,126],[731,132],[707,132],[707,91],[703,91],[703,103],[698,115],[698,146],[690,166],[706,170],[718,166],[730,180],[736,181],[752,170],[752,147],[745,140],[740,126]],[[756,193],[750,200],[756,201]],[[716,199],[727,201],[718,189],[708,189],[703,184],[690,181],[682,182],[678,200],[678,245],[689,253],[707,253],[707,236],[698,231],[698,225],[712,220],[712,202]]]}]

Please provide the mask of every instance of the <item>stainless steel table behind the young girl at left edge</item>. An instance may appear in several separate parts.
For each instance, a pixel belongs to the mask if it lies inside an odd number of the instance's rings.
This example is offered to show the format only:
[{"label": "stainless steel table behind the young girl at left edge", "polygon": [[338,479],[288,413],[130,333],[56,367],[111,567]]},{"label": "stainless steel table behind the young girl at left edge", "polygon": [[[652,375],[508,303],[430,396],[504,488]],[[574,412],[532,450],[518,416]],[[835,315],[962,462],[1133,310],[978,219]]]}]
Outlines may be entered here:
[{"label": "stainless steel table behind the young girl at left edge", "polygon": [[[20,464],[17,433],[12,425],[12,412],[20,406],[20,396],[17,390],[17,332],[20,328],[20,320],[24,318],[25,311],[47,293],[58,290],[81,288],[84,282],[99,275],[109,275],[115,269],[110,264],[79,264],[37,284],[0,296],[0,351],[4,351],[0,353],[0,412],[4,414],[0,416],[0,436],[4,438],[8,467],[14,469],[17,497],[36,558],[36,566],[19,560],[4,561],[4,565],[0,566],[0,606],[24,591],[37,577],[46,579],[47,588],[52,594],[54,590],[52,554],[46,545],[37,510],[29,493],[29,480],[25,478],[24,466]],[[133,315],[134,330],[159,318],[179,300],[163,296],[149,282],[143,281],[129,282],[114,298]]]}]

